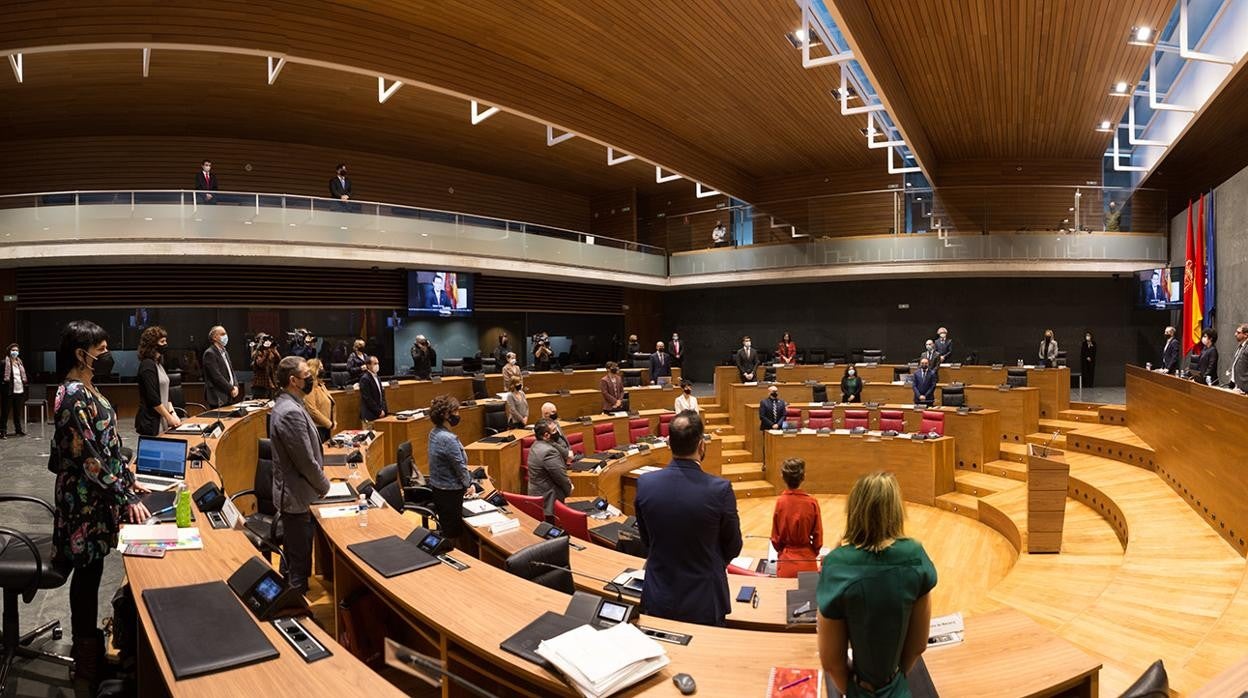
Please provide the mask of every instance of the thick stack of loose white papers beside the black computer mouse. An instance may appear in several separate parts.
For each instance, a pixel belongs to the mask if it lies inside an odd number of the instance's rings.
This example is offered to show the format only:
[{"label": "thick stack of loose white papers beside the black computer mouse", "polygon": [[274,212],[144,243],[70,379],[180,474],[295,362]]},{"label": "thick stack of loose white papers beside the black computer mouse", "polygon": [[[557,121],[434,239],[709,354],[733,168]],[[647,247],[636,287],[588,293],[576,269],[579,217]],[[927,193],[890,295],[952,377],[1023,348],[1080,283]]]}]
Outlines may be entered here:
[{"label": "thick stack of loose white papers beside the black computer mouse", "polygon": [[658,642],[629,623],[605,631],[589,626],[573,628],[543,641],[538,654],[585,698],[610,696],[671,663]]}]

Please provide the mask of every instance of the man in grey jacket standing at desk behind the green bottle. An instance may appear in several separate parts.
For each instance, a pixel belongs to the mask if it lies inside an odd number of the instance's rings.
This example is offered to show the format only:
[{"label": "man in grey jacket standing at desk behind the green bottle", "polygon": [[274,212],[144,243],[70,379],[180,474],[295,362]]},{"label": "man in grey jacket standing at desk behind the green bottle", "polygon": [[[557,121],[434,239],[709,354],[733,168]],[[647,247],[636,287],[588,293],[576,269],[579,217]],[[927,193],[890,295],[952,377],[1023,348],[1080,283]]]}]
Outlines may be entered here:
[{"label": "man in grey jacket standing at desk behind the green bottle", "polygon": [[329,492],[324,477],[321,436],[303,398],[312,392],[312,371],[300,356],[277,365],[275,385],[281,392],[268,420],[273,448],[273,503],[282,521],[282,572],[291,587],[307,592],[312,574],[312,512],[310,506]]}]

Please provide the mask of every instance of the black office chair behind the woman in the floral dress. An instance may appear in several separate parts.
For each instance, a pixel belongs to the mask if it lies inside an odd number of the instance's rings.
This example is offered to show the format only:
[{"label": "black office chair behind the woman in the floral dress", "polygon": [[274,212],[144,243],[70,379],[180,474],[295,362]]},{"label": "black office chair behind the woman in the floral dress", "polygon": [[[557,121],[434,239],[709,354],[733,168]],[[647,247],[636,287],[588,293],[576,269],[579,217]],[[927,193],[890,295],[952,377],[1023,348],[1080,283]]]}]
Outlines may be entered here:
[{"label": "black office chair behind the woman in the floral dress", "polygon": [[[47,509],[49,518],[55,516],[51,504],[29,494],[0,494],[0,502],[30,502]],[[49,523],[47,533],[30,533],[16,528],[0,527],[0,587],[4,588],[4,634],[0,646],[4,659],[0,664],[0,694],[5,694],[9,669],[15,659],[47,659],[65,667],[74,667],[74,659],[44,652],[30,647],[41,636],[51,633],[52,639],[61,638],[61,622],[51,621],[22,634],[17,616],[17,599],[30,603],[40,589],[55,589],[65,586],[66,572],[52,567],[52,533]]]}]

